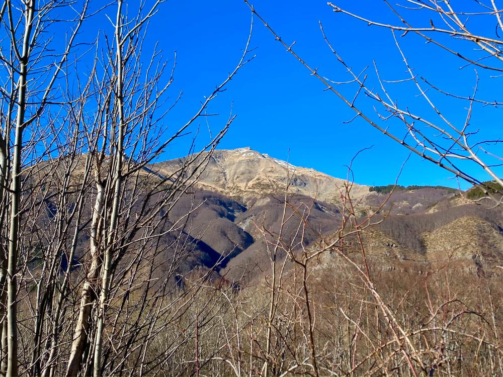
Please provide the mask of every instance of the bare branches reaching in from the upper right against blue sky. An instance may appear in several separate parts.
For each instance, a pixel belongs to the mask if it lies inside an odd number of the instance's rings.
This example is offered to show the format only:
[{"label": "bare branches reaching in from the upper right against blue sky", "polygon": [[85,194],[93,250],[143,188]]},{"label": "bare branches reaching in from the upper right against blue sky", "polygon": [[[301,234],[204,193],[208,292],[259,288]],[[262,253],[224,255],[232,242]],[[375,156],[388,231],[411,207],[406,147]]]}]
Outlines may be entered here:
[{"label": "bare branches reaching in from the upper right against blue sky", "polygon": [[[484,179],[485,176],[503,186],[503,181],[497,173],[501,157],[498,148],[499,139],[487,137],[487,125],[476,126],[477,120],[473,114],[484,107],[485,111],[492,108],[495,118],[499,117],[498,109],[503,101],[487,99],[485,93],[479,92],[480,76],[484,81],[496,81],[499,72],[503,70],[501,61],[501,42],[499,34],[503,32],[501,13],[495,1],[474,2],[470,5],[454,4],[450,1],[437,0],[404,0],[393,5],[384,1],[384,8],[390,10],[396,17],[396,24],[382,23],[376,19],[360,16],[358,11],[351,12],[336,3],[328,3],[329,9],[338,15],[344,15],[362,21],[374,28],[390,30],[397,51],[401,56],[407,76],[382,77],[379,62],[373,63],[373,72],[368,67],[361,71],[353,68],[353,62],[347,62],[344,56],[337,52],[337,42],[330,41],[320,23],[321,36],[333,53],[336,61],[341,64],[345,78],[334,78],[332,72],[322,73],[321,68],[314,68],[294,51],[294,45],[288,44],[272,29],[260,15],[257,14],[248,0],[245,3],[266,25],[287,51],[300,61],[311,73],[333,92],[340,100],[355,112],[355,119],[363,119],[387,137],[404,146],[412,153],[434,163],[466,182],[478,185],[487,197],[495,204],[500,204],[501,190],[494,189]],[[412,13],[415,17],[412,17]],[[410,18],[410,20],[409,20]],[[477,24],[492,23],[492,32],[479,34]],[[397,34],[400,34],[400,38]],[[427,44],[423,45],[425,53],[434,45],[439,53],[451,54],[459,58],[461,68],[474,67],[474,88],[466,94],[454,93],[442,84],[435,84],[428,77],[417,73],[417,69],[409,63],[402,44],[406,43],[411,34],[419,36]],[[432,46],[433,47],[433,46]],[[457,67],[453,67],[457,69]],[[336,73],[339,75],[339,73]],[[423,100],[430,112],[425,112],[407,99],[393,98],[393,85],[406,87],[415,92]],[[350,95],[348,90],[352,90]],[[449,102],[446,103],[446,96]],[[371,101],[367,104],[366,101]],[[446,105],[445,105],[446,104]],[[372,105],[373,107],[369,107]],[[446,114],[446,107],[458,108],[466,113],[464,122],[459,122]],[[375,111],[374,111],[375,110]],[[353,121],[352,120],[352,121]],[[485,179],[487,180],[487,179]],[[498,192],[494,195],[494,192]]]}]

